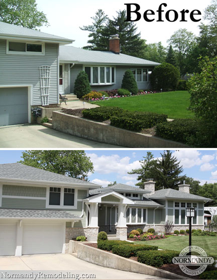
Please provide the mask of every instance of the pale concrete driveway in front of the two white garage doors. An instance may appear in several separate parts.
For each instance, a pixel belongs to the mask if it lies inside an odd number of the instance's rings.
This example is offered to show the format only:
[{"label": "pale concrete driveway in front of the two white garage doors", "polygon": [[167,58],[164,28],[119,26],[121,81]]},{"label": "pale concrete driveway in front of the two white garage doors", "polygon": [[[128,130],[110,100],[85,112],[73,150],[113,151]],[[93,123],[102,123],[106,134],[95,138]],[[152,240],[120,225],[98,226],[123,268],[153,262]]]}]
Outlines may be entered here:
[{"label": "pale concrete driveway in front of the two white garage doors", "polygon": [[[96,277],[85,275],[83,279],[164,279],[156,276],[105,268],[76,258],[70,254],[30,255],[21,257],[0,257],[0,270],[36,271],[70,271],[71,274],[95,274]],[[28,270],[28,271],[27,271]],[[10,271],[11,273],[11,271]],[[75,278],[73,278],[75,279]],[[76,279],[78,280],[78,279]]]}]

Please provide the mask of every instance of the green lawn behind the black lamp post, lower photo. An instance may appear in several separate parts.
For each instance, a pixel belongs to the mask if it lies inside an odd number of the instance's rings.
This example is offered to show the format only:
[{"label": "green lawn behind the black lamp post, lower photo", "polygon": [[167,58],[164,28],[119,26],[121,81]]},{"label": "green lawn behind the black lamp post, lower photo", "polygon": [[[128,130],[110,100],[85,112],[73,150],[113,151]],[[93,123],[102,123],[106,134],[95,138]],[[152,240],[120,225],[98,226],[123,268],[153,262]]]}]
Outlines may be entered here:
[{"label": "green lawn behind the black lamp post, lower photo", "polygon": [[[150,241],[136,241],[138,244],[156,245],[159,249],[181,251],[188,246],[188,236],[170,236],[165,239]],[[206,251],[208,255],[217,259],[217,236],[192,236],[192,245],[197,245]]]}]

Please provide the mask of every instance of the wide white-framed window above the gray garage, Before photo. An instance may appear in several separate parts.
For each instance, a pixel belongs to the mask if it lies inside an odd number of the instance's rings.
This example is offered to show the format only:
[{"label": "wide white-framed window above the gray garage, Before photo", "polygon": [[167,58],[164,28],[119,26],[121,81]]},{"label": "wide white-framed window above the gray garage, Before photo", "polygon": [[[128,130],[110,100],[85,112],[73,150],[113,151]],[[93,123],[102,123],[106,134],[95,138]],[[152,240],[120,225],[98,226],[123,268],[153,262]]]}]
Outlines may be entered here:
[{"label": "wide white-framed window above the gray garage, Before photo", "polygon": [[8,41],[7,45],[7,53],[44,54],[44,44]]}]

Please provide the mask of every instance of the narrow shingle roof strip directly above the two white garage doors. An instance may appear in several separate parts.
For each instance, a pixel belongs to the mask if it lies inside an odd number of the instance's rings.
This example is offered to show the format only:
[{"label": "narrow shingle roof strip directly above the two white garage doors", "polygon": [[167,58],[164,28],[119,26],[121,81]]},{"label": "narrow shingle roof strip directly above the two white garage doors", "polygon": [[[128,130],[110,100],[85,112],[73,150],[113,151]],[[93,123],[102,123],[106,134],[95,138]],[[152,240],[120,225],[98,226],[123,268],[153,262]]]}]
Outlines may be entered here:
[{"label": "narrow shingle roof strip directly above the two white garage doors", "polygon": [[78,216],[62,210],[0,209],[0,218],[76,219]]}]

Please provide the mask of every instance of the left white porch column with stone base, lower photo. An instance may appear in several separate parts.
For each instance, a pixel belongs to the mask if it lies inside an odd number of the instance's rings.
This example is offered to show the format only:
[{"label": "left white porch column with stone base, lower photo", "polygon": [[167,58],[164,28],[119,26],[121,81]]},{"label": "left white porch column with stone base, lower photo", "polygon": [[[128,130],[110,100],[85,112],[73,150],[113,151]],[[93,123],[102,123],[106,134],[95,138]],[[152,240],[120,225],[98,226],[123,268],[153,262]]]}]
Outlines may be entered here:
[{"label": "left white porch column with stone base, lower photo", "polygon": [[98,235],[98,203],[90,203],[89,209],[89,225],[87,229],[87,240],[96,241]]}]

